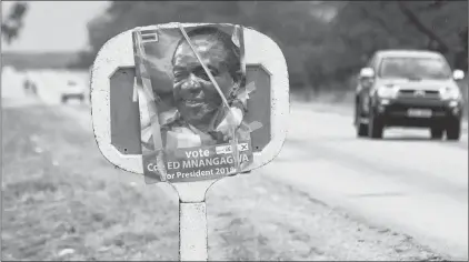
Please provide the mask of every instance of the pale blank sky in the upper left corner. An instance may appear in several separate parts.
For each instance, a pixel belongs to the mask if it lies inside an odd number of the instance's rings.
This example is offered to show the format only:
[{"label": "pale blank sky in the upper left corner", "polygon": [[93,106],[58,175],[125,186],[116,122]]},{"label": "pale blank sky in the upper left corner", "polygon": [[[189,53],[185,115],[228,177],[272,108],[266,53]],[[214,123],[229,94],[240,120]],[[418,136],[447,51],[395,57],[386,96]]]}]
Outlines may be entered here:
[{"label": "pale blank sky in the upper left corner", "polygon": [[[2,18],[13,1],[2,1]],[[102,13],[109,1],[29,1],[17,40],[1,50],[20,52],[78,51],[88,46],[87,22]]]}]

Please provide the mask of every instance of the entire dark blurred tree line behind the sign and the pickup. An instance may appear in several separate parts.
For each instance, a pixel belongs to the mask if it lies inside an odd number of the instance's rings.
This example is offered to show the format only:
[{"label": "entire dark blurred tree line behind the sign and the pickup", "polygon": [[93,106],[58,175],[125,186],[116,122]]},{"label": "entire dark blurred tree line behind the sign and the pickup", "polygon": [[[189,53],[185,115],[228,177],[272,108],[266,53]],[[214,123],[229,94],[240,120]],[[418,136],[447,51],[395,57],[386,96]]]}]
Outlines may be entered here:
[{"label": "entire dark blurred tree line behind the sign and the pickup", "polygon": [[468,70],[467,1],[112,1],[88,24],[89,49],[70,67],[89,68],[100,48],[134,27],[228,22],[273,39],[291,89],[349,89],[379,49],[429,49]]}]

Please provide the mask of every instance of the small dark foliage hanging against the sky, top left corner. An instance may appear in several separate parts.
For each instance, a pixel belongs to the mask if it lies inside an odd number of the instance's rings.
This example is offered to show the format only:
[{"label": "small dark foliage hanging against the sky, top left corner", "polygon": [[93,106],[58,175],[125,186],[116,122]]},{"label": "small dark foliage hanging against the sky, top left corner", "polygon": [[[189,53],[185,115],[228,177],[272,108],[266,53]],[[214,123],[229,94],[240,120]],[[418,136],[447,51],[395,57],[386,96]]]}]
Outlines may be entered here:
[{"label": "small dark foliage hanging against the sky, top left corner", "polygon": [[23,26],[23,19],[28,11],[27,2],[16,2],[11,8],[10,13],[1,23],[1,36],[4,41],[10,44],[18,38],[19,32]]}]

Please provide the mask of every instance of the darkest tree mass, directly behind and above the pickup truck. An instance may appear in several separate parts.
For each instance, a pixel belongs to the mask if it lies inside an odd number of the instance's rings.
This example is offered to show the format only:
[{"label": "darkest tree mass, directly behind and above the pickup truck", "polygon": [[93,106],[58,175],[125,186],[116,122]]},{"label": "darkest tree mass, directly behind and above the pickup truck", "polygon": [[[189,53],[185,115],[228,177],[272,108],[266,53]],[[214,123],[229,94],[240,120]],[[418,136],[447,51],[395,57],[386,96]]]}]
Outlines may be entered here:
[{"label": "darkest tree mass, directly behind and above the pickup truck", "polygon": [[345,3],[325,40],[327,59],[317,60],[321,81],[343,81],[380,49],[436,50],[467,70],[467,8],[465,1],[440,0]]}]

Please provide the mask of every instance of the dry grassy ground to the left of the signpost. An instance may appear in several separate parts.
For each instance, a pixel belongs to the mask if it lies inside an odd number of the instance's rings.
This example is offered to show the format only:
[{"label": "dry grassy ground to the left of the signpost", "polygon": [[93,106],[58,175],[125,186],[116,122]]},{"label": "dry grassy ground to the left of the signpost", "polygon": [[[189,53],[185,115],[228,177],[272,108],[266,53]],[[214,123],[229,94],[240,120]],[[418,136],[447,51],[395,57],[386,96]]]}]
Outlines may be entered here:
[{"label": "dry grassy ground to the left of the signpost", "polygon": [[3,124],[2,260],[177,260],[177,206],[113,181],[71,121],[34,108],[3,110]]}]

